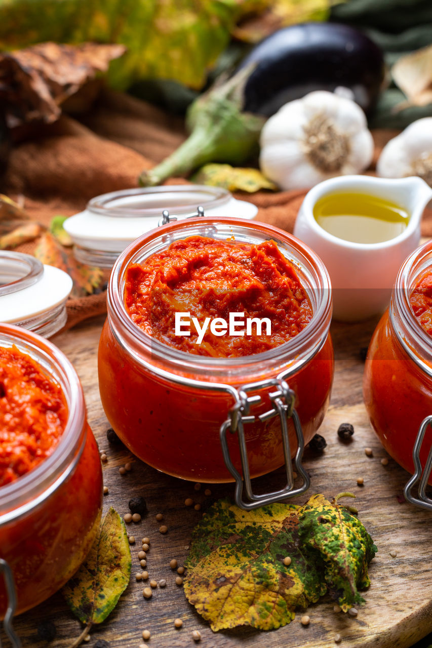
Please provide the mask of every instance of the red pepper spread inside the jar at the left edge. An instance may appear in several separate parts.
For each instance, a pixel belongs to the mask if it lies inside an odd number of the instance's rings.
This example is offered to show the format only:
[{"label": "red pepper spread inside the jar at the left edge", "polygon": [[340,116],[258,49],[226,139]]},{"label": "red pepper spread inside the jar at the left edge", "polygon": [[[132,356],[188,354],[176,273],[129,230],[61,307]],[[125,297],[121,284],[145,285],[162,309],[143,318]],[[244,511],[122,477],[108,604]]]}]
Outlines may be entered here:
[{"label": "red pepper spread inside the jar at the left edge", "polygon": [[16,347],[0,347],[0,486],[54,450],[67,421],[60,386]]}]

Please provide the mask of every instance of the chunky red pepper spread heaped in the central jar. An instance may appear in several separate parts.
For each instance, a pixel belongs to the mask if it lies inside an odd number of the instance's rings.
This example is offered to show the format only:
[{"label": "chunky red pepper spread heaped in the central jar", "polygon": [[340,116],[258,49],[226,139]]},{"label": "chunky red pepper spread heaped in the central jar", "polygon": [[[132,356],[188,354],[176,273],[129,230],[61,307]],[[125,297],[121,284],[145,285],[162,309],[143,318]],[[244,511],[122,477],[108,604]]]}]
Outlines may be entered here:
[{"label": "chunky red pepper spread heaped in the central jar", "polygon": [[[147,334],[181,351],[223,358],[267,351],[296,336],[313,315],[293,264],[274,241],[259,245],[235,240],[189,237],[131,264],[125,277],[125,307]],[[216,336],[210,325],[202,338],[191,323],[190,336],[175,334],[175,313],[188,312],[200,326],[206,318],[243,313],[268,318],[271,333],[252,323],[251,334]],[[184,330],[184,329],[183,329]],[[221,330],[221,329],[219,329]],[[237,324],[237,330],[242,326]]]}]

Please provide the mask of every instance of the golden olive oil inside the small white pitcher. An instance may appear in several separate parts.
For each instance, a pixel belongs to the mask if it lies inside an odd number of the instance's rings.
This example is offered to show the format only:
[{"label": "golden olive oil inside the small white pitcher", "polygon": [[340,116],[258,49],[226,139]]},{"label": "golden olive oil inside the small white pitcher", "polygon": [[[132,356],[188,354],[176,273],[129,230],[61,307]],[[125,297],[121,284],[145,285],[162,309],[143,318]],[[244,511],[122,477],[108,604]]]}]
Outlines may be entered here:
[{"label": "golden olive oil inside the small white pitcher", "polygon": [[401,234],[410,214],[378,196],[339,193],[317,200],[313,216],[334,237],[355,243],[381,243]]}]

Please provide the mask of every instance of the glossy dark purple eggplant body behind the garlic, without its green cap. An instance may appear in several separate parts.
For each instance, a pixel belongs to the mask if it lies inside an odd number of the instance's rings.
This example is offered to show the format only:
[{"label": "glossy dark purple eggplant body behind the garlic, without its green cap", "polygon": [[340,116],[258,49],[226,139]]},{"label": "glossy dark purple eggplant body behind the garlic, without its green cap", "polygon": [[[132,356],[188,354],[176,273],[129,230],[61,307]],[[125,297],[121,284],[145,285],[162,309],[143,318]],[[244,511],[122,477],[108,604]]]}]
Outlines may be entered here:
[{"label": "glossy dark purple eggplant body behind the garlic, without its green cap", "polygon": [[280,29],[258,43],[239,69],[251,64],[256,67],[246,80],[243,110],[265,117],[313,90],[333,92],[338,87],[370,114],[385,77],[378,45],[338,23]]}]

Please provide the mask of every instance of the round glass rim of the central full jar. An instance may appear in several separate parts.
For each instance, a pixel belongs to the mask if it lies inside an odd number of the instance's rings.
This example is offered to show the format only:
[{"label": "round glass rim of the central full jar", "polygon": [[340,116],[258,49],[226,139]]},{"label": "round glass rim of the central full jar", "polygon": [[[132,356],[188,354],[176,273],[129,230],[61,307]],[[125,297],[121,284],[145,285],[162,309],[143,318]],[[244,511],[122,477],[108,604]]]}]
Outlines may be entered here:
[{"label": "round glass rim of the central full jar", "polygon": [[[302,268],[300,265],[299,268],[299,262],[297,261],[296,265],[294,261],[296,270],[303,271],[302,279],[306,279],[306,265],[309,264],[313,268],[315,280],[320,285],[304,287],[306,289],[309,288],[309,290],[317,289],[319,296],[317,307],[314,309],[311,321],[294,338],[277,347],[249,356],[213,358],[180,351],[158,340],[154,340],[154,338],[142,329],[139,329],[132,321],[125,308],[122,286],[125,270],[130,262],[134,262],[132,259],[139,256],[140,251],[150,242],[159,240],[163,242],[163,246],[166,248],[173,242],[174,235],[176,236],[175,240],[191,235],[202,236],[205,234],[198,233],[197,229],[204,228],[205,230],[217,226],[226,227],[229,235],[235,235],[236,233],[239,235],[248,231],[251,237],[252,235],[263,235],[265,237],[263,240],[275,240],[276,244],[289,246],[291,251],[295,251],[295,255],[300,257],[304,262],[305,267]],[[283,252],[283,250],[281,251]],[[311,277],[309,277],[309,281],[311,281]],[[300,354],[305,352],[306,347],[310,347],[311,338],[313,340],[319,338],[321,343],[324,343],[326,336],[322,336],[322,332],[324,329],[326,333],[328,332],[331,319],[331,285],[328,272],[315,252],[286,231],[256,220],[239,222],[237,218],[206,216],[204,218],[180,220],[158,229],[153,229],[130,244],[119,256],[112,270],[108,284],[107,310],[108,319],[114,325],[117,340],[123,340],[123,346],[126,346],[129,353],[132,353],[134,358],[141,364],[142,358],[139,355],[139,351],[147,350],[151,353],[152,358],[166,362],[170,365],[171,369],[177,368],[180,373],[185,368],[191,369],[192,373],[201,376],[205,376],[210,370],[218,373],[225,373],[230,369],[232,371],[235,371],[235,369],[245,371],[247,369],[248,371],[262,372],[265,364],[271,364],[275,360],[280,360],[281,356],[300,357]],[[119,338],[122,338],[122,340]],[[317,350],[315,349],[315,353],[317,353]]]}]

